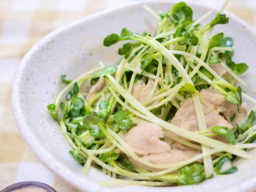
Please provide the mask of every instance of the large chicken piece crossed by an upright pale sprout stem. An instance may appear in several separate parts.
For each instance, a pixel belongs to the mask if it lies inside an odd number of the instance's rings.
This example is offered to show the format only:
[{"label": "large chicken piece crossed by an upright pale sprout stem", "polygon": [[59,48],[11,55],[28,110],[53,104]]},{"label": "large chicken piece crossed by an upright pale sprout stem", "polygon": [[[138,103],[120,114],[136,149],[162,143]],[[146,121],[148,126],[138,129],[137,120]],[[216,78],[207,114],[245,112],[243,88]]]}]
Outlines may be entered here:
[{"label": "large chicken piece crossed by an upright pale sprout stem", "polygon": [[[202,108],[204,111],[207,129],[211,129],[213,126],[226,126],[228,129],[233,128],[233,125],[226,121],[226,119],[221,115],[214,113],[214,111],[205,107],[203,104]],[[196,111],[192,98],[187,99],[182,104],[182,106],[173,117],[171,124],[181,127],[187,131],[198,131]]]}]

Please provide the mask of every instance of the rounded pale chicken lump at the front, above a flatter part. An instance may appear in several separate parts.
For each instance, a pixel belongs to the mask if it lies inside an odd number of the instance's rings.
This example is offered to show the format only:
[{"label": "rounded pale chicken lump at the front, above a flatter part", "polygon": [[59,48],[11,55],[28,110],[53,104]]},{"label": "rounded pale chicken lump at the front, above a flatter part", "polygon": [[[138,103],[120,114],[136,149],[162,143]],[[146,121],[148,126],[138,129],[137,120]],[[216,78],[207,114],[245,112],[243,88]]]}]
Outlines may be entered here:
[{"label": "rounded pale chicken lump at the front, above a flatter part", "polygon": [[160,138],[163,138],[161,127],[154,123],[140,124],[129,130],[124,140],[138,155],[165,153],[171,147]]}]

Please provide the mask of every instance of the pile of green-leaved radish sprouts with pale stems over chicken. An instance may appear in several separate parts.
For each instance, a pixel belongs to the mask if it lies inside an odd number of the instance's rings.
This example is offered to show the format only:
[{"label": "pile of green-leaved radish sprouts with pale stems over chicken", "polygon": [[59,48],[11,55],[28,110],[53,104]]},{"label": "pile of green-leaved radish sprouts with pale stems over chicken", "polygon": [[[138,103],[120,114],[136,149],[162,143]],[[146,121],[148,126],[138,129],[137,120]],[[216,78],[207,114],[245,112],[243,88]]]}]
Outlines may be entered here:
[{"label": "pile of green-leaved radish sprouts with pale stems over chicken", "polygon": [[[172,10],[163,14],[156,14],[145,6],[159,21],[154,37],[147,33],[132,33],[124,28],[120,35],[110,34],[103,41],[103,45],[108,47],[129,40],[118,49],[122,58],[115,65],[101,63],[101,67],[74,81],[66,75],[61,76],[67,86],[55,103],[47,108],[73,148],[69,153],[83,165],[85,173],[94,166],[116,178],[101,182],[103,186],[191,185],[216,174],[236,172],[233,161],[237,157],[252,158],[247,149],[256,147],[252,143],[256,138],[256,126],[253,125],[255,107],[232,130],[220,126],[207,129],[199,94],[202,89],[217,90],[237,105],[238,110],[242,99],[256,105],[256,100],[243,93],[239,86],[246,86],[238,75],[243,74],[248,66],[232,60],[233,39],[223,33],[212,35],[214,26],[229,21],[222,14],[227,3],[225,1],[219,12],[204,26],[200,23],[213,11],[194,21],[193,11],[183,2],[173,5]],[[231,82],[210,67],[214,63],[221,63],[231,76]],[[82,92],[81,87],[86,83],[93,86],[102,77],[106,86],[87,100],[89,90]],[[132,89],[142,78],[146,81],[153,79],[154,86],[148,98],[139,102],[133,97]],[[195,105],[199,127],[196,132],[171,124],[176,111],[188,98],[192,98]],[[123,139],[131,127],[141,123],[157,124],[162,127],[165,137],[202,153],[173,164],[149,163]],[[212,134],[225,136],[229,143],[211,138]],[[115,149],[121,153],[116,153]],[[132,164],[129,158],[159,171],[143,170]],[[200,159],[203,163],[198,162]],[[229,165],[228,169],[222,169],[224,164]]]}]

